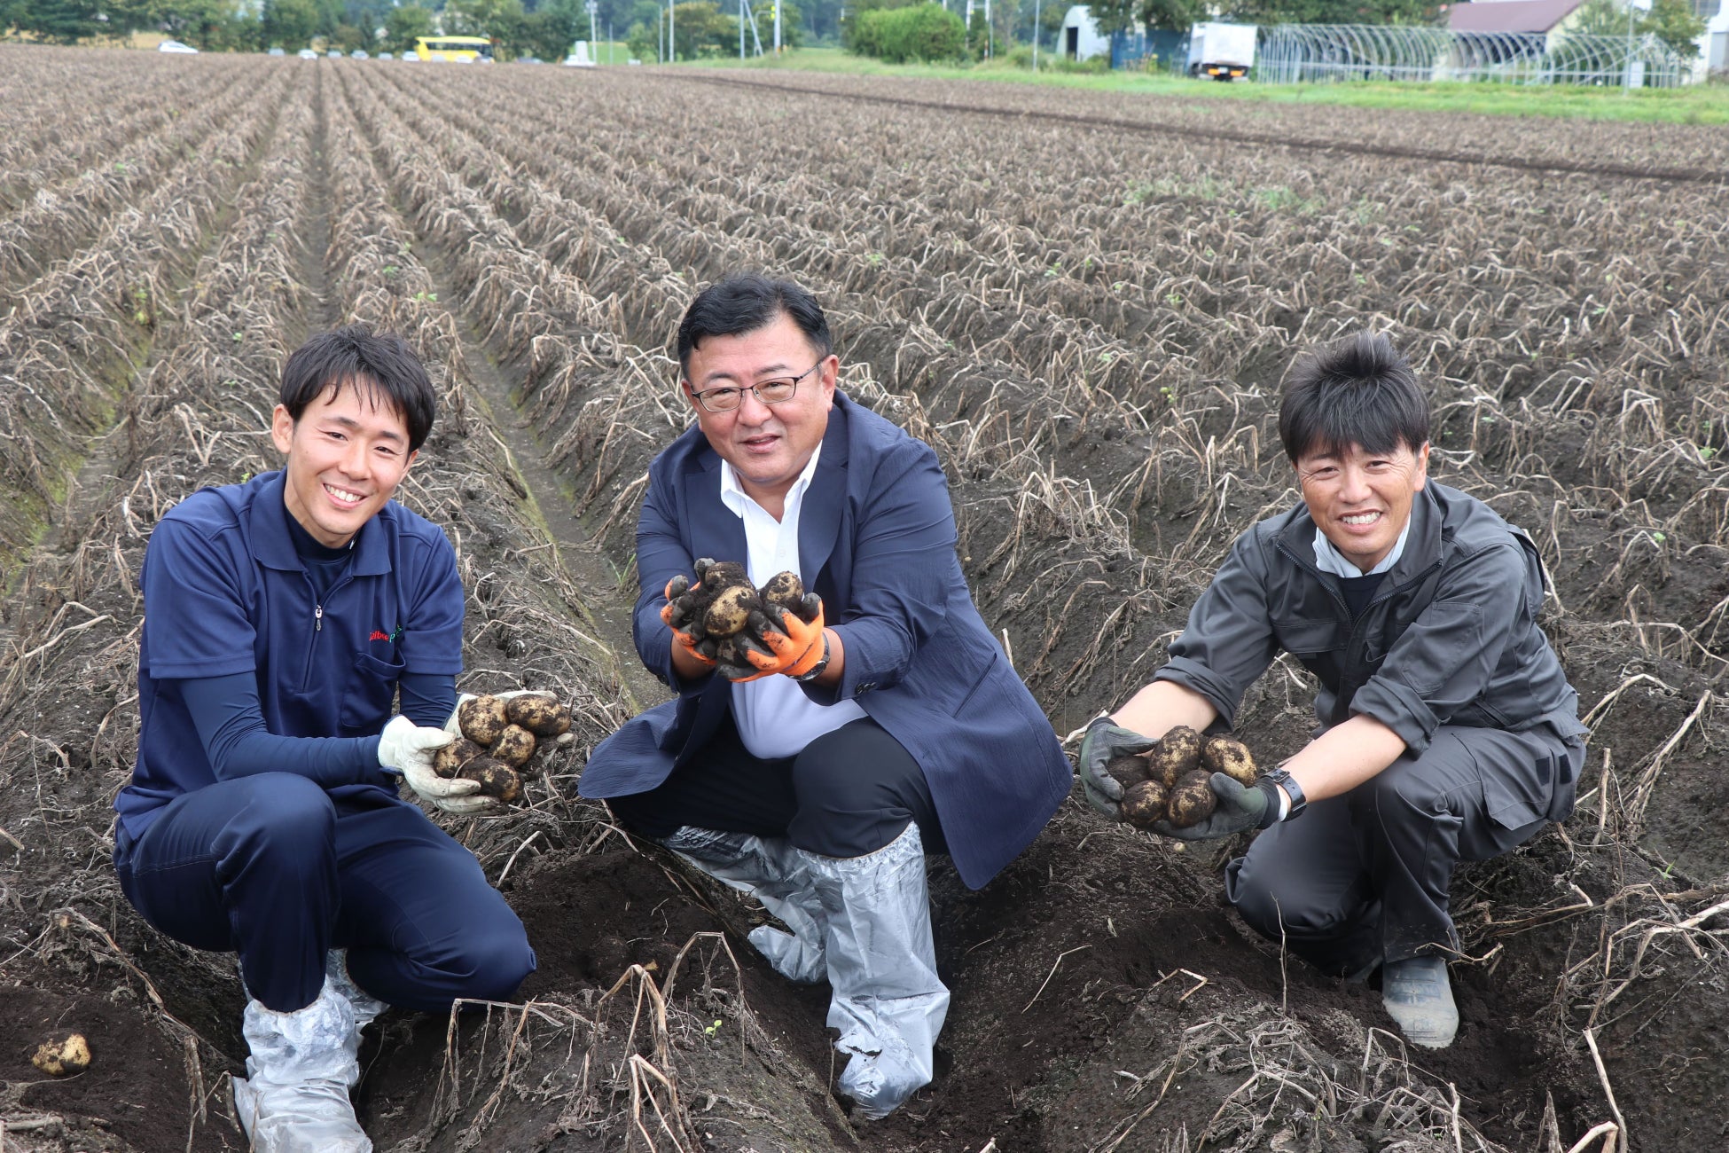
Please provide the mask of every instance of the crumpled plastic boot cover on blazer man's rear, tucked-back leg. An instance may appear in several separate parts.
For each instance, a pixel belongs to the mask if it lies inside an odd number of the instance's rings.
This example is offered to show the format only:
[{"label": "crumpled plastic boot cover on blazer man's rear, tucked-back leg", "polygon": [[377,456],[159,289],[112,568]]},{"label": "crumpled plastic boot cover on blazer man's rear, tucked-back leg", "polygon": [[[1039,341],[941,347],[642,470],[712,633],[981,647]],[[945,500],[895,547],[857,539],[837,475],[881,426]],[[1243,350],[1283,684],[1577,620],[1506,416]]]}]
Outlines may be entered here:
[{"label": "crumpled plastic boot cover on blazer man's rear, tucked-back leg", "polygon": [[750,930],[750,944],[787,980],[814,985],[828,971],[823,961],[823,906],[806,870],[804,854],[780,837],[719,833],[685,825],[664,842],[699,870],[747,892],[792,932],[773,925]]}]

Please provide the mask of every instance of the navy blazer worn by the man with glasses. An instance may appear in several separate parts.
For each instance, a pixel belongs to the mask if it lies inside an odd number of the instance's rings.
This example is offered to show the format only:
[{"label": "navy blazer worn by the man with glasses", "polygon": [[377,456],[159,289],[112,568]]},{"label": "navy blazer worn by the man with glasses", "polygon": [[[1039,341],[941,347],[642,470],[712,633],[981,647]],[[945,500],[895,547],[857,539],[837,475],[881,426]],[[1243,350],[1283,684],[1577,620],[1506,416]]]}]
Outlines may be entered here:
[{"label": "navy blazer worn by the man with glasses", "polygon": [[[979,889],[1039,835],[1074,774],[973,607],[954,543],[937,455],[837,392],[799,513],[799,569],[845,645],[845,671],[832,688],[802,688],[820,704],[856,700],[901,742],[930,781],[961,880]],[[721,458],[692,427],[648,467],[636,524],[636,652],[678,698],[602,742],[581,795],[648,792],[714,736],[733,686],[673,671],[660,607],[697,557],[745,555],[743,520],[721,503]]]}]

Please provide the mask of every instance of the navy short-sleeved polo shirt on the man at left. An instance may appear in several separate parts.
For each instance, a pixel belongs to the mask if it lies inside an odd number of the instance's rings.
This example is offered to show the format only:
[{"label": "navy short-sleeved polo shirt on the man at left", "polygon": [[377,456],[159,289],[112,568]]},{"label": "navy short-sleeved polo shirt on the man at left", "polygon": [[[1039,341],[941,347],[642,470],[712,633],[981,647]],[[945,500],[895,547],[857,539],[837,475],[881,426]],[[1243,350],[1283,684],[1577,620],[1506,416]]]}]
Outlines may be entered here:
[{"label": "navy short-sleeved polo shirt on the man at left", "polygon": [[[138,645],[138,761],[114,807],[138,837],[216,783],[176,681],[252,672],[278,736],[377,736],[403,672],[462,672],[463,591],[444,532],[396,501],[354,534],[320,595],[294,550],[282,474],[199,489],[150,532]],[[396,795],[375,766],[332,795]]]}]

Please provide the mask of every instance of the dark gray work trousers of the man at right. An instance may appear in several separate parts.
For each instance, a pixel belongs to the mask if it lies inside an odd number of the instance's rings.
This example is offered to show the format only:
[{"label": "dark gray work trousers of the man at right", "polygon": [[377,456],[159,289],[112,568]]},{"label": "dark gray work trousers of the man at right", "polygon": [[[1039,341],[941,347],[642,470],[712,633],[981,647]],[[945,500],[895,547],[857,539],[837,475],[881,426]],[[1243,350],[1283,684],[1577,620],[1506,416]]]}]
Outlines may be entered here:
[{"label": "dark gray work trousers of the man at right", "polygon": [[1442,726],[1421,755],[1260,833],[1226,866],[1226,895],[1255,932],[1333,975],[1456,951],[1452,866],[1541,833],[1558,776],[1565,816],[1584,757],[1547,726]]}]

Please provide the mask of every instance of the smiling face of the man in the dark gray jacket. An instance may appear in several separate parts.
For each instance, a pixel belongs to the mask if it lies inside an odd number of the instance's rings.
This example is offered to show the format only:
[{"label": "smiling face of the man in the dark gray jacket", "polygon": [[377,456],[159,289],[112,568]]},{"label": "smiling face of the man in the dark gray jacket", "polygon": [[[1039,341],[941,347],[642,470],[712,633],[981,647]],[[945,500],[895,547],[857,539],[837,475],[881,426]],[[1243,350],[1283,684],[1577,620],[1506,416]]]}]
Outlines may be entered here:
[{"label": "smiling face of the man in the dark gray jacket", "polygon": [[1297,487],[1333,548],[1368,572],[1392,551],[1411,520],[1411,501],[1428,481],[1428,443],[1416,451],[1316,451],[1297,458]]}]

